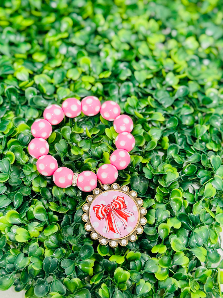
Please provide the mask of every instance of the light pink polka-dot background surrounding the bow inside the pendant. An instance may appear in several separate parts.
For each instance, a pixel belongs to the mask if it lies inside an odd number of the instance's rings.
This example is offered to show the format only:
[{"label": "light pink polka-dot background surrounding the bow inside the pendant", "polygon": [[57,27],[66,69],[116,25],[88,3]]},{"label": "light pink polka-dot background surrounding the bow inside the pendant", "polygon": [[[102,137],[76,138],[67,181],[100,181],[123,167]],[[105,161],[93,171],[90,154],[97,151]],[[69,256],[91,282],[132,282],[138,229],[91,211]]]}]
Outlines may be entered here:
[{"label": "light pink polka-dot background surrounding the bow inside the pendant", "polygon": [[[114,215],[115,219],[117,221],[117,225],[120,229],[121,235],[116,234],[112,231],[109,231],[107,233],[106,229],[105,229],[105,218],[102,220],[99,220],[96,217],[96,214],[93,210],[93,207],[97,204],[104,204],[104,205],[111,204],[112,200],[119,195],[123,195],[123,197],[125,199],[125,204],[127,206],[126,210],[134,213],[134,215],[128,217],[128,224],[126,226],[126,229],[124,228],[123,223],[120,221],[120,219]],[[90,209],[89,209],[89,220],[90,220],[92,227],[95,229],[95,231],[98,234],[100,234],[101,236],[103,236],[105,238],[109,238],[109,239],[121,239],[121,238],[126,237],[127,235],[131,234],[132,231],[134,231],[136,226],[138,226],[138,224],[139,224],[139,217],[140,217],[139,207],[137,206],[135,201],[128,194],[123,193],[121,191],[117,191],[117,190],[109,190],[109,191],[99,194],[93,200],[93,202],[90,206]]]}]

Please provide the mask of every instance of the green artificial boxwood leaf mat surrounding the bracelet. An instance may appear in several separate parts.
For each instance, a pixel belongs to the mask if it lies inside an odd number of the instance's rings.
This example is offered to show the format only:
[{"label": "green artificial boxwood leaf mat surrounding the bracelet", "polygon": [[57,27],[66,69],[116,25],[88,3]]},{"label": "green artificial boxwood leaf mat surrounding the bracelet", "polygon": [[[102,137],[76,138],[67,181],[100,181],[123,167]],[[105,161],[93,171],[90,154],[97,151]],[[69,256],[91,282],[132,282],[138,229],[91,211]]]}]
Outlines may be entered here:
[{"label": "green artificial boxwood leaf mat surrounding the bracelet", "polygon": [[[0,290],[222,297],[222,1],[1,3]],[[81,221],[86,193],[56,187],[27,152],[47,105],[87,95],[116,101],[135,123],[117,182],[144,199],[147,224],[127,247],[92,241]],[[50,154],[95,171],[115,137],[98,115],[65,119]]]}]

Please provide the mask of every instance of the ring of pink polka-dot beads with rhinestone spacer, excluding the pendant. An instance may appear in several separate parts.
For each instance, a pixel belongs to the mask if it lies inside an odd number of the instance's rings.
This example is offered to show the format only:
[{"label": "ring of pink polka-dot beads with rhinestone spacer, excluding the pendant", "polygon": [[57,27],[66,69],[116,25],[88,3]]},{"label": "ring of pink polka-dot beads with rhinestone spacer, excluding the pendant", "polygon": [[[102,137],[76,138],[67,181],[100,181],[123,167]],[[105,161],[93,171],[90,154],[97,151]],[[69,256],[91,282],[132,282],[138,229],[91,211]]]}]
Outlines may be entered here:
[{"label": "ring of pink polka-dot beads with rhinestone spacer, excluding the pendant", "polygon": [[[45,140],[52,133],[52,126],[59,124],[64,115],[69,118],[77,117],[81,111],[87,116],[94,116],[100,111],[101,116],[114,121],[114,130],[118,133],[115,139],[117,150],[110,156],[111,164],[99,167],[97,175],[92,171],[73,173],[67,167],[59,167],[56,159],[48,155],[49,145]],[[114,101],[107,101],[100,106],[98,97],[87,96],[82,101],[68,98],[59,105],[49,105],[43,112],[44,119],[37,119],[31,127],[35,137],[28,146],[29,154],[37,158],[37,170],[43,176],[53,175],[53,181],[58,187],[67,188],[77,186],[84,192],[90,192],[97,186],[98,180],[102,184],[112,184],[118,177],[117,170],[125,169],[130,163],[129,151],[135,146],[135,139],[130,132],[133,130],[133,121],[127,115],[120,115],[120,106]]]}]

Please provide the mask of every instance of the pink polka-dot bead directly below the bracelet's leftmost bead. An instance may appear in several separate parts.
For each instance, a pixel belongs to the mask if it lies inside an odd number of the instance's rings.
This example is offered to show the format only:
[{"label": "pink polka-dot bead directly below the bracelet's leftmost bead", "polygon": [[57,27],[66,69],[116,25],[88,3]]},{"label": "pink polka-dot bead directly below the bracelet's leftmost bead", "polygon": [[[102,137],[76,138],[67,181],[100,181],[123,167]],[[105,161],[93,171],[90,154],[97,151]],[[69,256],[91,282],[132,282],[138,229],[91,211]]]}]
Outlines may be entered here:
[{"label": "pink polka-dot bead directly below the bracelet's leftmost bead", "polygon": [[37,160],[37,170],[43,176],[51,176],[58,168],[56,159],[51,155],[43,155]]}]

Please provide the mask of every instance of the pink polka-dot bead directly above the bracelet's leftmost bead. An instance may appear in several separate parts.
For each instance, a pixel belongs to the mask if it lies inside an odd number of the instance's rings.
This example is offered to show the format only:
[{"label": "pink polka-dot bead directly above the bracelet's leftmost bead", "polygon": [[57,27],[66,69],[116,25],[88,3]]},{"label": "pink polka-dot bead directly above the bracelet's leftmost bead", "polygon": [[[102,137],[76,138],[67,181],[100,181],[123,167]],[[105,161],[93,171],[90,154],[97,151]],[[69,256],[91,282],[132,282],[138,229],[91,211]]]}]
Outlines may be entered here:
[{"label": "pink polka-dot bead directly above the bracelet's leftmost bead", "polygon": [[37,119],[31,126],[31,132],[35,138],[47,139],[52,133],[52,126],[45,119]]}]

